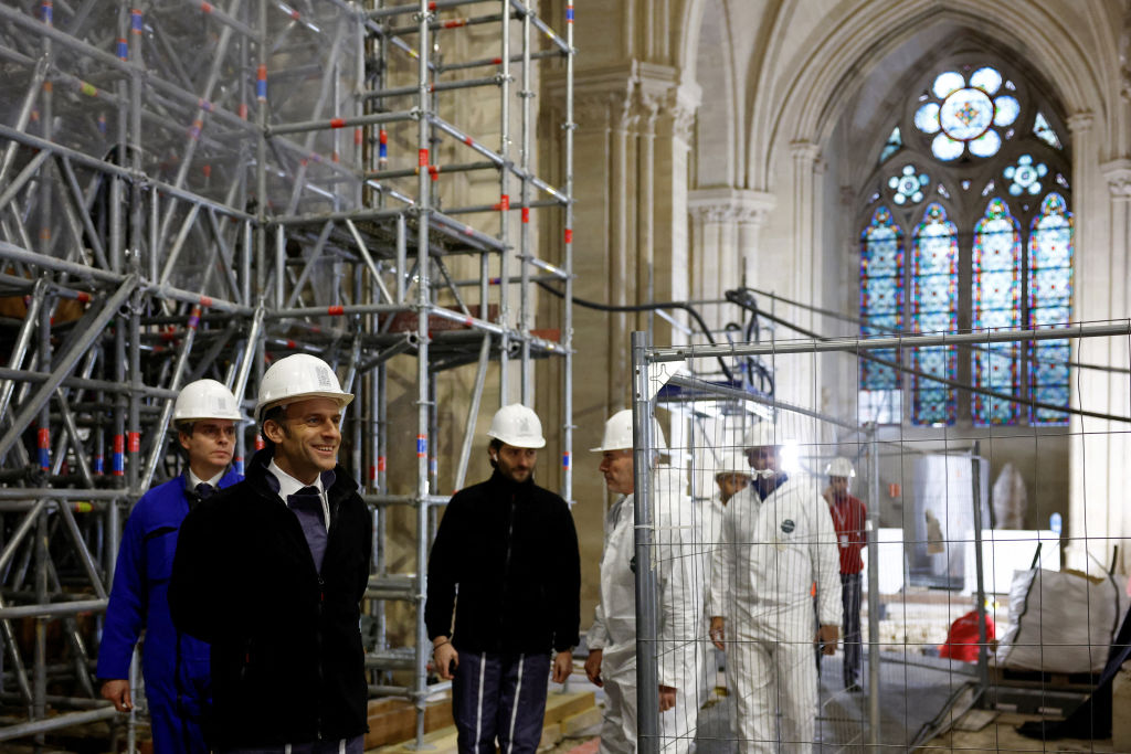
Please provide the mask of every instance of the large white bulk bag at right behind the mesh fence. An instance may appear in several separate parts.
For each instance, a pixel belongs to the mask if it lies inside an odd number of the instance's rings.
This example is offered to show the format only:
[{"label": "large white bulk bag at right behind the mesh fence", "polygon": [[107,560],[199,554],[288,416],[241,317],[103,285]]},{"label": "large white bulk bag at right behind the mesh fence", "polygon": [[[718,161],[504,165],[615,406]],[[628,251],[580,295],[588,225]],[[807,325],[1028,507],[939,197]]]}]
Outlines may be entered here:
[{"label": "large white bulk bag at right behind the mesh fence", "polygon": [[1034,569],[1016,571],[1009,590],[1011,626],[996,664],[1016,670],[1098,673],[1115,634],[1119,589],[1107,579]]}]

